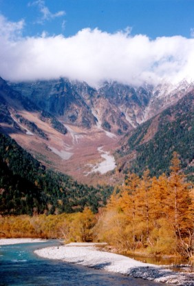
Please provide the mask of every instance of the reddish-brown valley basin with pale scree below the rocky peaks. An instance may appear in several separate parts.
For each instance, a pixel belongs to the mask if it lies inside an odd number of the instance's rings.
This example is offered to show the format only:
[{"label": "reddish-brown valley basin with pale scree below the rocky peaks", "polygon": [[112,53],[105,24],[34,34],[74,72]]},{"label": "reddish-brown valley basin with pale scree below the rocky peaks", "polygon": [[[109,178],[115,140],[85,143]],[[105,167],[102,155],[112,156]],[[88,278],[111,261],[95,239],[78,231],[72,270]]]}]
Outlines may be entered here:
[{"label": "reddish-brown valley basin with pale scree below the rocky peaks", "polygon": [[[22,116],[36,123],[47,134],[48,140],[36,134],[32,136],[29,132],[18,133],[10,130],[10,126],[6,123],[1,124],[3,132],[9,134],[43,165],[88,185],[107,183],[114,185],[118,182],[113,172],[116,169],[113,154],[119,145],[120,136],[105,132],[98,127],[85,130],[67,124],[65,127],[68,132],[64,135],[52,128],[48,129],[47,124],[40,121],[36,114],[23,112]],[[113,174],[110,175],[109,172]]]}]

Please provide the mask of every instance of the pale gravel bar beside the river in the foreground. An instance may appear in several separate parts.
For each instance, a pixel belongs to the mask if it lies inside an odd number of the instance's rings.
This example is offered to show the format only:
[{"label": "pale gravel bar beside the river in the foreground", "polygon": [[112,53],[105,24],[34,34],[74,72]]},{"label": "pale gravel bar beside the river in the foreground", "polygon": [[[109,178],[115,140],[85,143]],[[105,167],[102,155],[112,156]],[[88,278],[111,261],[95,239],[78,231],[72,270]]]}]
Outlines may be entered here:
[{"label": "pale gravel bar beside the river in the foreground", "polygon": [[91,246],[87,243],[87,245],[69,244],[60,247],[47,247],[36,250],[35,254],[44,258],[58,259],[155,282],[179,286],[194,285],[193,273],[173,272],[165,267],[141,263],[126,256],[99,251],[94,244]]}]

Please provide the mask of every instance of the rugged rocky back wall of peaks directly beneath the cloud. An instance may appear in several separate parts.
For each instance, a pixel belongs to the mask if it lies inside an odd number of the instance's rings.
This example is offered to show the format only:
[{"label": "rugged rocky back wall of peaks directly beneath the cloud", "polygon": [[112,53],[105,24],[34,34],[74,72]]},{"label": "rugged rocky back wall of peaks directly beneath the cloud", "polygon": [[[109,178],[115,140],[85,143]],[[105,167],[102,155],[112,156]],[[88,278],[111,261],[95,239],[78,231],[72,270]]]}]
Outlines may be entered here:
[{"label": "rugged rocky back wall of peaks directly beneath the cloud", "polygon": [[193,88],[182,81],[179,85],[164,83],[138,88],[106,82],[95,89],[68,79],[10,85],[65,123],[85,128],[97,126],[120,135],[173,105]]}]

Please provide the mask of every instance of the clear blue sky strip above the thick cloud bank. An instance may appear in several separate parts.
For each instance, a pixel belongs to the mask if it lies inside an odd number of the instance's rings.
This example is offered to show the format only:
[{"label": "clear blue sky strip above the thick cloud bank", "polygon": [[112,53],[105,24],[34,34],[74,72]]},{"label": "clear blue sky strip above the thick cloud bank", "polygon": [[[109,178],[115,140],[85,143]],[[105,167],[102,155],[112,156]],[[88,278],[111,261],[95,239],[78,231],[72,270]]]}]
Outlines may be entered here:
[{"label": "clear blue sky strip above the thick cloud bank", "polygon": [[[42,7],[56,17],[43,19]],[[9,21],[25,20],[23,34],[76,34],[83,28],[107,32],[132,28],[131,34],[155,37],[191,37],[193,0],[0,0],[0,12]],[[42,19],[42,21],[41,21]]]}]

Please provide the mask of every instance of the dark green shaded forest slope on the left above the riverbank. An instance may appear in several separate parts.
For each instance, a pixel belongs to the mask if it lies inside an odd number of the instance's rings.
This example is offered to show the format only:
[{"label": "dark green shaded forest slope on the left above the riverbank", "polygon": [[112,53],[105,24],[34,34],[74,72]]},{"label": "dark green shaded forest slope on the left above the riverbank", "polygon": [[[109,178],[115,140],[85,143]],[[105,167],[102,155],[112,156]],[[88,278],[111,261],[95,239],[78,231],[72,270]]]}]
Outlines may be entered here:
[{"label": "dark green shaded forest slope on the left above the riverbank", "polygon": [[0,132],[0,214],[96,212],[111,187],[87,187],[64,174],[45,170],[14,140]]}]

